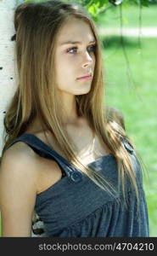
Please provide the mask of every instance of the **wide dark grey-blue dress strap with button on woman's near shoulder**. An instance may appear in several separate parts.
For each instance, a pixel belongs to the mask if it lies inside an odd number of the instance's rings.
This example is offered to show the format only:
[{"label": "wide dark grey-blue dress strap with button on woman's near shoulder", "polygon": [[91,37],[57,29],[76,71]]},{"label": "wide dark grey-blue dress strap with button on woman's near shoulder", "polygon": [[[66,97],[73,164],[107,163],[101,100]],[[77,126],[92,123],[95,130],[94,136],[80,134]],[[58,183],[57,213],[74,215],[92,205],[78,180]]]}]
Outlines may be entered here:
[{"label": "wide dark grey-blue dress strap with button on woman's near shoulder", "polygon": [[65,160],[60,154],[53,150],[53,148],[50,148],[46,143],[43,143],[42,140],[35,135],[31,133],[24,133],[20,137],[15,138],[8,147],[17,142],[24,142],[28,144],[35,152],[37,151],[36,153],[40,153],[42,157],[47,155],[49,159],[56,160],[59,166],[64,170],[64,172],[66,172],[67,176],[70,177],[73,182],[81,181],[81,172],[76,171],[76,168],[71,166],[68,160]]}]

